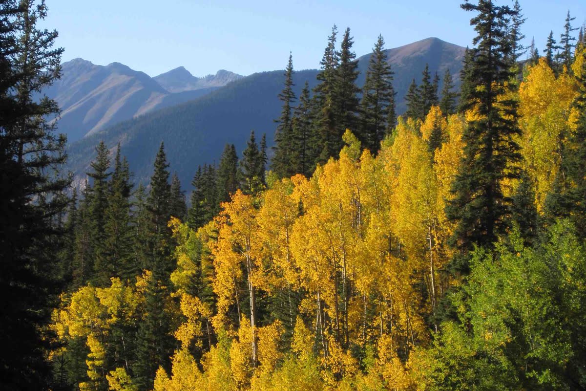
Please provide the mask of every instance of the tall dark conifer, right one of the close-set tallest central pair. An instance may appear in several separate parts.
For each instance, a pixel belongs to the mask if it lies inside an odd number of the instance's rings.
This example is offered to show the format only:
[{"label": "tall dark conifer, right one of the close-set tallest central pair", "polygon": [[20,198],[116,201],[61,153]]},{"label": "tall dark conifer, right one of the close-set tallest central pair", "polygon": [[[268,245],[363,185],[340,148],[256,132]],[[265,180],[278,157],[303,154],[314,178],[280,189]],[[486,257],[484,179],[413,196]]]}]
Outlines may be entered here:
[{"label": "tall dark conifer, right one of the close-set tallest central pair", "polygon": [[357,131],[360,88],[356,86],[356,79],[360,74],[356,53],[352,52],[352,37],[350,28],[346,28],[340,43],[338,53],[339,64],[335,72],[334,84],[334,123],[338,129],[337,149],[333,156],[338,156],[343,147],[342,134],[346,129]]}]

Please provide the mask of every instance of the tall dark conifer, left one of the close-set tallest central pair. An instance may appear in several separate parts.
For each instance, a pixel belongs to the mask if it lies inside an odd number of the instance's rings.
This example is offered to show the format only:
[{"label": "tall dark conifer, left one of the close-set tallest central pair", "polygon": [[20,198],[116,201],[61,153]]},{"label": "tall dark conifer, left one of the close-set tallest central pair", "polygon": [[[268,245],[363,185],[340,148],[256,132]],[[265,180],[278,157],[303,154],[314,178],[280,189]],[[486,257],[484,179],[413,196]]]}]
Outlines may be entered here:
[{"label": "tall dark conifer, left one of the close-set tallest central pair", "polygon": [[335,83],[336,68],[339,63],[338,52],[336,52],[336,35],[338,28],[333,25],[332,35],[328,37],[328,46],[326,46],[322,60],[319,62],[321,72],[316,79],[320,83],[314,89],[314,108],[316,132],[319,134],[319,153],[316,162],[324,163],[329,157],[335,156],[339,152],[339,131],[338,124],[335,123]]}]

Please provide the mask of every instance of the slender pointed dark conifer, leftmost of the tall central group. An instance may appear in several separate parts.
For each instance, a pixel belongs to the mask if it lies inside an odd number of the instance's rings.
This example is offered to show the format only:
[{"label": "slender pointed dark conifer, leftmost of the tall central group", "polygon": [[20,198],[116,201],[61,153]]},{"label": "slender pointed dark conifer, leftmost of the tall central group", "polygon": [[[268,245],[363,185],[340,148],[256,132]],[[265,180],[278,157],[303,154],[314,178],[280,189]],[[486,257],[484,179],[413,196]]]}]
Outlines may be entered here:
[{"label": "slender pointed dark conifer, leftmost of the tall central group", "polygon": [[289,62],[285,69],[285,87],[278,95],[283,102],[281,109],[281,117],[275,120],[279,125],[275,132],[275,147],[273,147],[275,154],[272,158],[272,169],[280,178],[284,176],[294,175],[292,171],[291,157],[294,153],[293,140],[293,126],[291,118],[292,103],[295,101],[295,93],[293,92],[293,60],[289,53]]}]

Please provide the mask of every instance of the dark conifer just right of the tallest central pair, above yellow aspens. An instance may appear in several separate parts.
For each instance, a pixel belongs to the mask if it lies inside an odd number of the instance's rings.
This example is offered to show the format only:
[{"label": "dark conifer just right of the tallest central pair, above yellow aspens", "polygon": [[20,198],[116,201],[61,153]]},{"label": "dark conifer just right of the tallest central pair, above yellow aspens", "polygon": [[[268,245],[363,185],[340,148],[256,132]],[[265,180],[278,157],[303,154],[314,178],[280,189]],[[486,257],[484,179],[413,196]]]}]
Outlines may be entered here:
[{"label": "dark conifer just right of the tallest central pair, above yellow aspens", "polygon": [[396,121],[393,74],[384,51],[383,36],[379,35],[364,81],[359,132],[363,147],[373,153],[379,150],[387,128],[394,127]]}]

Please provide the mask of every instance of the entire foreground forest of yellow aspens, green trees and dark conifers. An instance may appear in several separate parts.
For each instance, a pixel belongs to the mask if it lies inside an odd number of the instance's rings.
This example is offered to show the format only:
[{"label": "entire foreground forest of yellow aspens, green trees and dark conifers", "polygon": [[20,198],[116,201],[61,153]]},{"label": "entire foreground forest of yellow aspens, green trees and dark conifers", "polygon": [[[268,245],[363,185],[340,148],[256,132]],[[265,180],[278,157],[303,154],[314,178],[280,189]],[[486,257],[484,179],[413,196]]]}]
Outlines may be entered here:
[{"label": "entire foreground forest of yellow aspens, green trees and dark conifers", "polygon": [[148,186],[103,142],[72,185],[57,32],[0,0],[0,388],[586,389],[584,26],[539,50],[519,2],[461,8],[459,90],[426,66],[396,113],[383,37],[360,89],[333,26],[274,147],[186,195],[163,144]]}]

